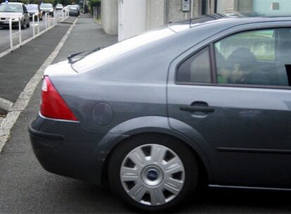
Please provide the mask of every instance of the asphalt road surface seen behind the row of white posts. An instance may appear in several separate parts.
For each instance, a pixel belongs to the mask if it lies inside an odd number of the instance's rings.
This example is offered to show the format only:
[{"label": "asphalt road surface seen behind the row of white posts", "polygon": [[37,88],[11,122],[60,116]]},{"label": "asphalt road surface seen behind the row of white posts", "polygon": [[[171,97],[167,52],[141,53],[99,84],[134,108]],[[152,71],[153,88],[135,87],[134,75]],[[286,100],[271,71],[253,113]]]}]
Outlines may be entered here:
[{"label": "asphalt road surface seen behind the row of white posts", "polygon": [[[57,11],[58,20],[60,20],[62,13],[61,11]],[[53,18],[50,18],[50,23],[53,25]],[[43,19],[42,21],[39,20],[39,32],[46,29],[46,22]],[[37,28],[35,29],[37,32]],[[17,32],[18,30],[13,30],[13,32]],[[30,27],[26,27],[22,31],[22,41],[32,37],[32,21],[30,21]],[[2,51],[6,51],[10,49],[10,37],[9,37],[9,28],[8,27],[0,27],[0,53]],[[13,45],[19,44],[18,35],[13,36]]]}]

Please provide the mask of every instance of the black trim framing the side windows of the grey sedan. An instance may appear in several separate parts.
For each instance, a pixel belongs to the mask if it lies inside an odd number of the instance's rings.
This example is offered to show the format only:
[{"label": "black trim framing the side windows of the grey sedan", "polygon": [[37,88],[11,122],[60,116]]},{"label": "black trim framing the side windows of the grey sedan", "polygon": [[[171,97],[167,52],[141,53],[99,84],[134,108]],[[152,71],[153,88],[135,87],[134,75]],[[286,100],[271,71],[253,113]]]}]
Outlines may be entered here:
[{"label": "black trim framing the side windows of the grey sedan", "polygon": [[[276,30],[279,28],[291,28],[291,25],[279,25],[279,26],[269,26],[269,27],[250,27],[249,29],[245,30],[235,30],[234,32],[230,32],[227,34],[224,34],[221,37],[218,37],[212,42],[209,42],[203,46],[201,46],[199,49],[195,50],[193,53],[190,53],[188,56],[183,58],[179,63],[177,63],[176,68],[174,70],[174,84],[178,85],[193,85],[193,86],[211,86],[211,87],[235,87],[235,88],[253,88],[253,89],[287,89],[291,90],[290,86],[276,86],[276,85],[264,85],[264,84],[219,84],[217,83],[217,69],[216,69],[216,57],[215,57],[215,51],[214,51],[214,43],[218,42],[221,39],[224,39],[226,37],[230,37],[233,34],[243,33],[243,32],[250,32],[254,30]],[[177,81],[177,73],[179,66],[181,63],[186,61],[191,56],[195,55],[195,53],[198,53],[202,49],[205,49],[206,47],[209,47],[209,61],[210,61],[210,69],[211,69],[211,82],[179,82]]]}]

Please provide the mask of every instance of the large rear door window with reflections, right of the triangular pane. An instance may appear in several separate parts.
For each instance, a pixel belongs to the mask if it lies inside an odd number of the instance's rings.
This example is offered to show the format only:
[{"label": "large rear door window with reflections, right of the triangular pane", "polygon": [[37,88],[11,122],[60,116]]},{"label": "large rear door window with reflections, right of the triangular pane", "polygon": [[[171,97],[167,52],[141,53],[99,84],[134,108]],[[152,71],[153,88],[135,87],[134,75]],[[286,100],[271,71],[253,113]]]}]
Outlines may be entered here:
[{"label": "large rear door window with reflections, right of the triangular pane", "polygon": [[290,86],[290,28],[240,32],[214,44],[218,84]]}]

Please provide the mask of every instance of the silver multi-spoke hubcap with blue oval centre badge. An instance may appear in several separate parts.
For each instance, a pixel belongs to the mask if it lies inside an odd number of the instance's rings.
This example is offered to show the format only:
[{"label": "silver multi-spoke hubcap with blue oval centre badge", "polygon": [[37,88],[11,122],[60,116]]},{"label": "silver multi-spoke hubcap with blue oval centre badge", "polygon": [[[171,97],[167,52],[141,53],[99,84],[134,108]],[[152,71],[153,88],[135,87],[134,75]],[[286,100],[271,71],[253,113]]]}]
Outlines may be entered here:
[{"label": "silver multi-spoke hubcap with blue oval centre badge", "polygon": [[137,201],[159,206],[179,195],[185,170],[179,156],[166,146],[138,146],[124,158],[120,169],[124,190]]}]

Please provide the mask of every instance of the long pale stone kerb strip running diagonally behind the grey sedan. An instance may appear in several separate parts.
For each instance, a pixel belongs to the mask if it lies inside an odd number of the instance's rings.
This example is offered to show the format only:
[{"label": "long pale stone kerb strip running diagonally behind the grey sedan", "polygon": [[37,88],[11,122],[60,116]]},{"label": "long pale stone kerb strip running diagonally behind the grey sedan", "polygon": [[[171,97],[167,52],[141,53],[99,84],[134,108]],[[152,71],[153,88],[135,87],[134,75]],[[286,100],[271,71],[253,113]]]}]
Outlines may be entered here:
[{"label": "long pale stone kerb strip running diagonally behind the grey sedan", "polygon": [[56,46],[56,49],[53,50],[51,55],[48,56],[48,58],[46,59],[46,61],[44,61],[39,70],[37,70],[37,73],[34,74],[32,79],[30,79],[30,82],[28,82],[27,85],[25,86],[25,89],[23,89],[23,92],[20,94],[20,96],[18,96],[18,100],[11,107],[10,112],[6,115],[6,118],[4,118],[4,120],[2,121],[0,125],[0,153],[4,145],[6,144],[6,141],[8,141],[11,129],[15,124],[16,120],[18,119],[20,113],[23,110],[25,110],[27,104],[30,102],[34,90],[37,87],[37,84],[39,84],[42,75],[44,74],[44,70],[46,69],[46,67],[48,67],[48,65],[51,65],[53,60],[56,58],[56,56],[60,52],[60,49],[65,44],[67,37],[69,36],[70,32],[72,31],[73,27],[76,25],[78,20],[79,18],[77,18],[75,22],[70,26],[70,28],[67,30],[63,38]]}]

